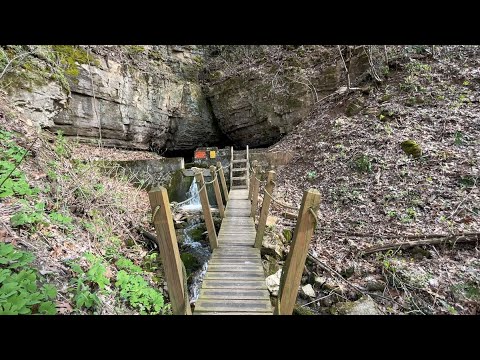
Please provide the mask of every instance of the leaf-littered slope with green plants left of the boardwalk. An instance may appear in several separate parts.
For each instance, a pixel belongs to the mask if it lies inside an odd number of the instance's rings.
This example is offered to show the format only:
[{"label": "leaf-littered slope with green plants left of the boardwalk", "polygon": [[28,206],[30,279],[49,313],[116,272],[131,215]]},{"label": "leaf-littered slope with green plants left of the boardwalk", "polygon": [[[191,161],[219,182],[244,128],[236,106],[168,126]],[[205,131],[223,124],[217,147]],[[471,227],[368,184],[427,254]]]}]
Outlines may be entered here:
[{"label": "leaf-littered slope with green plants left of the boardwalk", "polygon": [[148,195],[96,162],[160,156],[39,133],[2,97],[0,137],[0,314],[170,313],[157,251],[139,231],[151,226]]}]

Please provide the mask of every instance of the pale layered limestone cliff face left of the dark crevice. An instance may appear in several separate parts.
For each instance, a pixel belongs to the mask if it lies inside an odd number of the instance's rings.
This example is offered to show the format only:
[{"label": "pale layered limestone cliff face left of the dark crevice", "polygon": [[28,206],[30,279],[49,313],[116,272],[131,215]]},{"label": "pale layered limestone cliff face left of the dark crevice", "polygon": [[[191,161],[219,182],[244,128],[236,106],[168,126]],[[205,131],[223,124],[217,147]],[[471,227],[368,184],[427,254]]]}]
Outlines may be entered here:
[{"label": "pale layered limestone cliff face left of the dark crevice", "polygon": [[138,48],[125,56],[114,47],[93,47],[95,64],[77,64],[78,76],[69,77],[70,95],[55,81],[16,86],[9,95],[42,127],[86,140],[101,136],[105,146],[162,150],[218,143],[220,133],[198,82],[199,49]]}]

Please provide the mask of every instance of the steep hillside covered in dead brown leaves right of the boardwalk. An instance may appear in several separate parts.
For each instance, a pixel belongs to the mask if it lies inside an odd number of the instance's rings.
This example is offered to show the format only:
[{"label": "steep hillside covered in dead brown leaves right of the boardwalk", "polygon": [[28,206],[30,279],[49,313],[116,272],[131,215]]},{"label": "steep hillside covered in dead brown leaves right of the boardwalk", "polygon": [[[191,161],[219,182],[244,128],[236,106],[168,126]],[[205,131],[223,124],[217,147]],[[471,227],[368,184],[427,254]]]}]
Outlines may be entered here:
[{"label": "steep hillside covered in dead brown leaves right of the boardwalk", "polygon": [[[278,198],[299,206],[305,189],[322,196],[311,250],[342,276],[309,262],[315,311],[369,295],[386,314],[480,313],[478,236],[361,256],[407,236],[480,233],[479,55],[459,47],[392,62],[382,83],[326,99],[269,148],[295,154],[277,172]],[[421,156],[403,151],[406,140]]]}]

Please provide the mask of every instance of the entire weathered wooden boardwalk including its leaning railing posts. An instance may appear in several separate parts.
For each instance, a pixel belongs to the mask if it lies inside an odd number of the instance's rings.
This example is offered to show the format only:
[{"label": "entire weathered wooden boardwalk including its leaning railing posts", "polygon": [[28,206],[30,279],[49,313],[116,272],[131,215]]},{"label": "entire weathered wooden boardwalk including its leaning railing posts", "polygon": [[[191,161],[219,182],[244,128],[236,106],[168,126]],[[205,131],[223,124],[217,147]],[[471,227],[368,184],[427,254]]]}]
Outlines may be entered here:
[{"label": "entire weathered wooden boardwalk including its leaning railing posts", "polygon": [[[231,148],[230,160],[230,191],[227,189],[224,168],[220,162],[217,162],[217,169],[214,166],[210,167],[212,180],[209,182],[205,182],[203,171],[195,174],[212,256],[208,262],[207,272],[193,314],[291,315],[295,307],[309,243],[318,222],[316,212],[320,204],[320,192],[309,189],[303,193],[290,250],[282,268],[274,310],[265,283],[260,248],[271,201],[273,200],[277,205],[285,208],[292,207],[273,197],[275,171],[268,171],[256,229],[254,219],[258,208],[259,187],[263,182],[258,178],[261,176],[260,167],[257,161],[253,161],[252,173],[249,176],[248,146],[246,158],[243,159],[235,158],[233,148]],[[225,209],[223,208],[220,183],[223,197],[227,200]],[[214,187],[219,214],[222,218],[218,235],[207,195],[206,186],[209,184]],[[160,256],[165,268],[172,312],[176,315],[191,315],[186,270],[180,259],[170,210],[172,204],[169,203],[167,189],[164,187],[152,189],[149,192],[149,199],[152,208],[152,222],[157,233]]]}]

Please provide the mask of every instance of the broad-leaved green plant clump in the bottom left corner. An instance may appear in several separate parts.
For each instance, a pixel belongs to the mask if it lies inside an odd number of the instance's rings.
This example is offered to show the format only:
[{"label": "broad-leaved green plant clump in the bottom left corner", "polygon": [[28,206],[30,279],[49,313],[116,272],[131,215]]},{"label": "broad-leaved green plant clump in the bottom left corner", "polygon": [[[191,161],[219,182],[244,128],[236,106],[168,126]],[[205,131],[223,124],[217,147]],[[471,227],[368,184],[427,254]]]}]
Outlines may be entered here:
[{"label": "broad-leaved green plant clump in the bottom left corner", "polygon": [[37,272],[29,264],[32,254],[0,243],[0,315],[56,313],[57,290],[38,284]]}]

